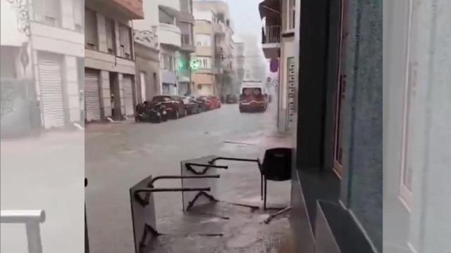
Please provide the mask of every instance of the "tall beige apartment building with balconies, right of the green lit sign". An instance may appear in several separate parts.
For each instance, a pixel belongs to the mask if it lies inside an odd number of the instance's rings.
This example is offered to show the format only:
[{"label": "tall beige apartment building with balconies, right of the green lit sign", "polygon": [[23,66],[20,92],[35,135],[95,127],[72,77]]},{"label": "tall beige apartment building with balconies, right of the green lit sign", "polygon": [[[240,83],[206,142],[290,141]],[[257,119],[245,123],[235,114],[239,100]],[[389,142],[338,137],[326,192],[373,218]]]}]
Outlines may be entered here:
[{"label": "tall beige apartment building with balconies, right of the green lit sign", "polygon": [[223,1],[194,1],[194,38],[199,68],[193,73],[193,93],[225,96],[234,77],[233,24]]}]

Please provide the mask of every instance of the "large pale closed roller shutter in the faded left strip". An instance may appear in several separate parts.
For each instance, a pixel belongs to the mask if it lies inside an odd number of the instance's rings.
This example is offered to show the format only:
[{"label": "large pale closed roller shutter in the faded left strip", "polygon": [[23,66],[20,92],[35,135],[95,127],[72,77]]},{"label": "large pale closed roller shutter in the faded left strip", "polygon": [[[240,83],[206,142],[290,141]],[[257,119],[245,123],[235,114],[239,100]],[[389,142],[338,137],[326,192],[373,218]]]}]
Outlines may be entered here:
[{"label": "large pale closed roller shutter in the faded left strip", "polygon": [[61,61],[56,57],[39,56],[38,70],[44,128],[64,126],[66,120]]}]

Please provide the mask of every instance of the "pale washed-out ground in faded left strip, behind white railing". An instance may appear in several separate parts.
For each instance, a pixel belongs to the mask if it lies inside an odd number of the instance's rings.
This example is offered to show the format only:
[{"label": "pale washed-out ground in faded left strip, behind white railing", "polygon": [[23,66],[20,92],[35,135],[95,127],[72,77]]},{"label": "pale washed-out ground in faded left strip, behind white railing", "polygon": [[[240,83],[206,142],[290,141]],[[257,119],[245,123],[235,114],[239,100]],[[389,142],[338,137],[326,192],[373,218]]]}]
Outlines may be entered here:
[{"label": "pale washed-out ground in faded left strip, behind white railing", "polygon": [[[43,252],[84,251],[84,131],[1,140],[1,209],[44,209]],[[1,225],[1,252],[27,252],[23,225]]]}]

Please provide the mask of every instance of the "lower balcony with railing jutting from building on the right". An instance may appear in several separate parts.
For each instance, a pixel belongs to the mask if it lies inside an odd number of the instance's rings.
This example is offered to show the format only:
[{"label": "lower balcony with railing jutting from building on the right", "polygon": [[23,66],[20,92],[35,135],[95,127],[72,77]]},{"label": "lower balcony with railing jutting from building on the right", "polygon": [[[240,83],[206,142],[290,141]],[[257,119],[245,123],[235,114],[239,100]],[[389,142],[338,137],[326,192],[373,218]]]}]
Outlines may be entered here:
[{"label": "lower balcony with railing jutting from building on the right", "polygon": [[266,58],[271,59],[279,57],[280,39],[280,25],[268,25],[261,29],[261,44]]}]

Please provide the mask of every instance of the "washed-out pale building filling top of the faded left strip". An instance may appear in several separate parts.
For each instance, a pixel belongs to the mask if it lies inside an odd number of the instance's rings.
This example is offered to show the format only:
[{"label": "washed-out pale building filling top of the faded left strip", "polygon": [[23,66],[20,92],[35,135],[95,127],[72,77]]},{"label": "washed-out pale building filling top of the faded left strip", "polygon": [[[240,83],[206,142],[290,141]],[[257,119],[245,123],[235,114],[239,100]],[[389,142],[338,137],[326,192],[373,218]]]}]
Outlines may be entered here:
[{"label": "washed-out pale building filling top of the faded left strip", "polygon": [[29,120],[24,113],[40,115],[32,124],[44,129],[80,122],[82,13],[81,0],[1,1],[1,30],[8,34],[1,37],[2,93],[11,84],[14,89],[22,86],[19,97],[34,101],[32,109],[11,108],[2,117],[2,131],[20,122],[29,124],[23,121]]}]

